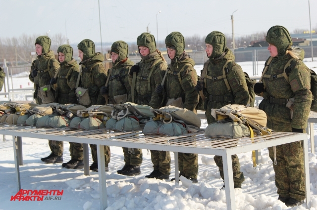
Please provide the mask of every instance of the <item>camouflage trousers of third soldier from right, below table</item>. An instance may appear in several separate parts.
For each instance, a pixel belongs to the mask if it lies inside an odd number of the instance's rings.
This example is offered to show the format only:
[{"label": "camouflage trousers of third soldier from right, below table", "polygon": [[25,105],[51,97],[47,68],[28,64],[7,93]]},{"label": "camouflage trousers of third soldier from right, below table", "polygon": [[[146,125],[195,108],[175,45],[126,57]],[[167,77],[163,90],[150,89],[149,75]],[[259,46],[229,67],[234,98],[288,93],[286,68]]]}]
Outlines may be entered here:
[{"label": "camouflage trousers of third soldier from right, below table", "polygon": [[178,153],[179,175],[197,179],[198,175],[198,154]]}]

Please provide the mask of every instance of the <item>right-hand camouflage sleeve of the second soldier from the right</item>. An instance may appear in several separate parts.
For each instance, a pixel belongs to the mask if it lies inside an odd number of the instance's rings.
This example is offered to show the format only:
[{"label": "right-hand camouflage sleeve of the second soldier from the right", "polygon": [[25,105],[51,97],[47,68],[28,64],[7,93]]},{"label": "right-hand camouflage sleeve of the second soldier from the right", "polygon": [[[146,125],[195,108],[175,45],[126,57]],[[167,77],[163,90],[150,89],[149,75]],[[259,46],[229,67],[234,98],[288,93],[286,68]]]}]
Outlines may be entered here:
[{"label": "right-hand camouflage sleeve of the second soldier from the right", "polygon": [[228,69],[227,80],[234,96],[234,103],[247,105],[250,95],[242,68],[238,64],[229,63]]}]

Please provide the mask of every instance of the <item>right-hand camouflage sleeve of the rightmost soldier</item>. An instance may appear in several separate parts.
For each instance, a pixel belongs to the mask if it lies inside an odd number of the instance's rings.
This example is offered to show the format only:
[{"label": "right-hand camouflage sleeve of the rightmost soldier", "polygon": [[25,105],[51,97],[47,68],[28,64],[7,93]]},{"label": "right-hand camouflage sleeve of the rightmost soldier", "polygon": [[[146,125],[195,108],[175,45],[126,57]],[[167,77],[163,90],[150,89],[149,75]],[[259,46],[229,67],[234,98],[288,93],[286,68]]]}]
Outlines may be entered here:
[{"label": "right-hand camouflage sleeve of the rightmost soldier", "polygon": [[307,127],[313,95],[310,90],[311,75],[307,66],[301,60],[294,60],[291,65],[295,62],[297,64],[295,64],[295,68],[289,74],[289,83],[295,94],[292,127],[300,129]]}]

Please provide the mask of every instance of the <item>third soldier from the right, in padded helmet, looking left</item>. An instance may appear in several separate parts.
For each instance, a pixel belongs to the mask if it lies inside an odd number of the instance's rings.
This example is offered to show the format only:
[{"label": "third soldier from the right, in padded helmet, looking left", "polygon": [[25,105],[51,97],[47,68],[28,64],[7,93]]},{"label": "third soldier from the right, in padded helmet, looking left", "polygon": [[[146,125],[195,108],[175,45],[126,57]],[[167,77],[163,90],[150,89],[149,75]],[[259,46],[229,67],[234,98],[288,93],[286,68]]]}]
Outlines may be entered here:
[{"label": "third soldier from the right, in padded helmet, looking left", "polygon": [[[184,37],[179,32],[172,32],[166,37],[165,44],[171,64],[168,65],[166,70],[168,72],[165,87],[159,84],[156,91],[166,93],[166,106],[186,108],[196,113],[199,95],[195,91],[195,86],[198,77],[194,69],[194,60],[184,51]],[[179,175],[192,180],[194,183],[198,182],[198,154],[178,153],[178,164]],[[175,180],[175,178],[172,180]]]}]

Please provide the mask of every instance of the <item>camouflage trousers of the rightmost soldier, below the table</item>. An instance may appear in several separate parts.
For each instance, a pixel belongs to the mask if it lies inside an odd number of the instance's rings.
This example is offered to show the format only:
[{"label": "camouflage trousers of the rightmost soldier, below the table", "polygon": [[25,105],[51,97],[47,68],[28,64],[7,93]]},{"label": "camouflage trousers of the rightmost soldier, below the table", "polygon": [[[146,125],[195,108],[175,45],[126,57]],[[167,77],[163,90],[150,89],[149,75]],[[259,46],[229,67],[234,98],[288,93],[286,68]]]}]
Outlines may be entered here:
[{"label": "camouflage trousers of the rightmost soldier, below the table", "polygon": [[[274,163],[273,147],[268,148],[270,159]],[[275,185],[277,194],[285,198],[298,201],[305,199],[305,175],[303,141],[276,146],[277,165],[275,171]]]}]

